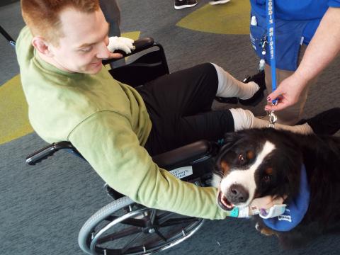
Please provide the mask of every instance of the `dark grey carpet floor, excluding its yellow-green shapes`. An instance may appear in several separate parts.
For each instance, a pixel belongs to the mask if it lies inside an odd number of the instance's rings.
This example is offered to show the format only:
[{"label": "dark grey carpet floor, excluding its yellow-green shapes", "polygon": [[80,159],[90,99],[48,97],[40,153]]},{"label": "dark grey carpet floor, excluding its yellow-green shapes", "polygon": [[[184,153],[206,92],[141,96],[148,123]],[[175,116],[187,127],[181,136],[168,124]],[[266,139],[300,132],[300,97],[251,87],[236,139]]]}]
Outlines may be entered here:
[{"label": "dark grey carpet floor, excluding its yellow-green shapes", "polygon": [[[198,7],[206,3],[199,1]],[[120,6],[122,32],[140,30],[141,36],[161,42],[171,72],[201,62],[220,64],[238,79],[256,72],[248,35],[176,27],[193,9],[175,11],[171,0],[125,0]],[[18,2],[0,7],[0,24],[17,37],[23,26]],[[3,84],[18,74],[18,66],[13,49],[1,37],[0,48]],[[338,58],[311,88],[305,116],[340,106],[339,66]],[[262,106],[251,110],[263,114]],[[37,166],[26,166],[26,155],[44,145],[34,133],[0,145],[0,254],[82,254],[77,245],[81,225],[111,201],[91,167],[70,154],[60,152]],[[207,221],[193,237],[163,254],[339,254],[339,241],[339,235],[324,236],[305,249],[283,251],[276,238],[261,236],[250,220],[227,219]]]}]

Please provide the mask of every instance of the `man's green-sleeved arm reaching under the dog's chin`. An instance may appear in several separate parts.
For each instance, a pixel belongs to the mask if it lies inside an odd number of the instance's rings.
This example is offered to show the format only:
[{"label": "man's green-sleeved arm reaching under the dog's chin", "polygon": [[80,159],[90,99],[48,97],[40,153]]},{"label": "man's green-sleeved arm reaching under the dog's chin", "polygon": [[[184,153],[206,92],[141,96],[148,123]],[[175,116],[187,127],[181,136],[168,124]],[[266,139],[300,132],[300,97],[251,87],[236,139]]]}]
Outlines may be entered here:
[{"label": "man's green-sleeved arm reaching under the dog's chin", "polygon": [[[241,214],[220,209],[217,188],[198,187],[160,169],[140,146],[129,121],[118,113],[92,115],[72,131],[69,141],[111,188],[149,208],[211,220],[249,215],[248,208]],[[269,208],[273,203],[266,197],[256,206]]]}]

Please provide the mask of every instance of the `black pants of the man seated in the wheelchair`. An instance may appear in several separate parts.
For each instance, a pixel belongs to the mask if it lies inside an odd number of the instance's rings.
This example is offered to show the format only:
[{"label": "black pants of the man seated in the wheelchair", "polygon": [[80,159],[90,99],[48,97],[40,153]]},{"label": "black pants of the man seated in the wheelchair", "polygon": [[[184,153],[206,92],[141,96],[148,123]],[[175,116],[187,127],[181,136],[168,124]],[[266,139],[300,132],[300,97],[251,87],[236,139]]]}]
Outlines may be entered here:
[{"label": "black pants of the man seated in the wheelchair", "polygon": [[151,155],[234,131],[228,110],[211,111],[218,85],[212,64],[174,72],[137,89],[152,121],[145,148]]}]

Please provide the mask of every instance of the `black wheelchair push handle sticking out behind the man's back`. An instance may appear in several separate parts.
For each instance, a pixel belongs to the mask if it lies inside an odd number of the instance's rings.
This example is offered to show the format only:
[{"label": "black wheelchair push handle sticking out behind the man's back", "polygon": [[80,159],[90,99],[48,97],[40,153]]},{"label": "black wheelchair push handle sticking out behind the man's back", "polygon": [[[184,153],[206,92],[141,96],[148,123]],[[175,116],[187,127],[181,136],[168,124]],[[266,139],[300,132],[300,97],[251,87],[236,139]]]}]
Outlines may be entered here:
[{"label": "black wheelchair push handle sticking out behind the man's back", "polygon": [[74,149],[71,142],[53,142],[51,145],[28,155],[28,157],[26,157],[26,163],[30,166],[34,166],[35,164],[42,162],[42,160],[47,159],[47,157],[52,156],[58,150],[66,148]]}]

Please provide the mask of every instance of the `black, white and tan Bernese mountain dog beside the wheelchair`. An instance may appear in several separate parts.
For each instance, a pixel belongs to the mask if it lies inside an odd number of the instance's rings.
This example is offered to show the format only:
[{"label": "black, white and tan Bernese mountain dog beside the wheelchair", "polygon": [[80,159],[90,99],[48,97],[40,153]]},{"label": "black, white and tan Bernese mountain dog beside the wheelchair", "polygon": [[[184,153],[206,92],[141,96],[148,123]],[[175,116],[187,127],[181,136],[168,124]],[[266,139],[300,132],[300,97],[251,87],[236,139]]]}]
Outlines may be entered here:
[{"label": "black, white and tan Bernese mountain dog beside the wheelchair", "polygon": [[285,198],[284,203],[289,205],[301,195],[302,169],[309,201],[299,223],[293,229],[280,231],[254,216],[256,229],[276,234],[284,248],[303,246],[320,234],[337,232],[340,137],[298,135],[273,128],[228,133],[215,162],[217,203],[224,210],[232,210],[270,195]]}]

